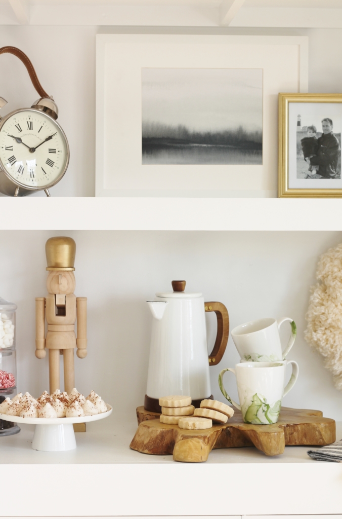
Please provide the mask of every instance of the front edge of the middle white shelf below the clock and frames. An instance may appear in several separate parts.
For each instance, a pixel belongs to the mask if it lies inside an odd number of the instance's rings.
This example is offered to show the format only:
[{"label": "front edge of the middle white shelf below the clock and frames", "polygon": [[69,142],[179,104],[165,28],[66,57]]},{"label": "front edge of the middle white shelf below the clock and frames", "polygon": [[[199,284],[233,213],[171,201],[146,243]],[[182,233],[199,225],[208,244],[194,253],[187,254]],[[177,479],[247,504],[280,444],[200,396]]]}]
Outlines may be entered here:
[{"label": "front edge of the middle white shelf below the clock and frames", "polygon": [[342,199],[0,198],[0,229],[342,230]]}]

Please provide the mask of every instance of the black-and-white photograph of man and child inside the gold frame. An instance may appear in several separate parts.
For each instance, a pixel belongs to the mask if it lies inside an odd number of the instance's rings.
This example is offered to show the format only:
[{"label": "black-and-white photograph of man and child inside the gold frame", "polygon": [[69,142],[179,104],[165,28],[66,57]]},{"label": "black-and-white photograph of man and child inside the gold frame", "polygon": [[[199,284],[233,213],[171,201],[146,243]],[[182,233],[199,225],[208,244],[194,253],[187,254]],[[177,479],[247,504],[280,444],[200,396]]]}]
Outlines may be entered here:
[{"label": "black-and-white photograph of man and child inside the gold frame", "polygon": [[297,179],[341,178],[341,116],[336,108],[309,103],[298,108]]}]

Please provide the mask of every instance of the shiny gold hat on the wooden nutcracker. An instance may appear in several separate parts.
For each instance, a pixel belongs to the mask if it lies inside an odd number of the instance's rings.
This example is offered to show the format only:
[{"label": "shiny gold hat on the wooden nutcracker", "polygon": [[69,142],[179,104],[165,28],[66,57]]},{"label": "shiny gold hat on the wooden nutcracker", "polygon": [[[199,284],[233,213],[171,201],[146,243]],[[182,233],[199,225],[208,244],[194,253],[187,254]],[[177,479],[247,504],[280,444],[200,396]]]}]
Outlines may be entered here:
[{"label": "shiny gold hat on the wooden nutcracker", "polygon": [[75,270],[76,243],[67,236],[54,236],[45,244],[47,270]]}]

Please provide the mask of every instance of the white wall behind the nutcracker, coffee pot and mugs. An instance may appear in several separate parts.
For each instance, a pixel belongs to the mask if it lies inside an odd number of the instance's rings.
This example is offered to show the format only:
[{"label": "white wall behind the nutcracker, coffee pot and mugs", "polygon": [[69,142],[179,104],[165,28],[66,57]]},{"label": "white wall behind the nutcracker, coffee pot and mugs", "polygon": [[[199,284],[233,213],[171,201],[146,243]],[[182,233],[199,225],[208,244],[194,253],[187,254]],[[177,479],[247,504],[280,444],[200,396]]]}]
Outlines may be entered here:
[{"label": "white wall behind the nutcracker, coffee pot and mugs", "polygon": [[[341,394],[303,337],[318,255],[338,244],[341,233],[1,231],[0,296],[18,304],[18,385],[35,396],[48,388],[48,359],[34,356],[34,298],[46,294],[45,241],[61,234],[76,240],[75,293],[88,297],[89,353],[75,360],[80,391],[93,388],[121,416],[135,416],[147,381],[152,320],[146,300],[169,290],[172,279],[186,279],[189,291],[202,291],[207,301],[226,305],[231,329],[259,317],[292,317],[298,335],[289,358],[300,365],[300,376],[283,404],[321,409],[342,420]],[[208,327],[213,345],[213,319]],[[289,333],[289,327],[284,329],[283,340]],[[215,398],[224,400],[219,371],[236,362],[230,338],[223,360],[210,368]],[[227,389],[237,397],[233,375],[225,377]]]}]

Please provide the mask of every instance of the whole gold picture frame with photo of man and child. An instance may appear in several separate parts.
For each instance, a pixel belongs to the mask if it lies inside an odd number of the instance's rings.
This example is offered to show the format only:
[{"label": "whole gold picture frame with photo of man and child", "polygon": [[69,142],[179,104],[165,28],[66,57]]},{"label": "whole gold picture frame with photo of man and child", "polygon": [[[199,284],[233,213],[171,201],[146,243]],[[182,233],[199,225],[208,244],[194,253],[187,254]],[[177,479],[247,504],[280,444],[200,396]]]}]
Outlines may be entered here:
[{"label": "whole gold picture frame with photo of man and child", "polygon": [[[305,115],[304,120],[302,113]],[[336,128],[336,135],[334,131],[330,133],[335,135],[335,143],[336,139],[339,141],[338,157],[336,147],[334,156],[330,152],[330,156],[333,157],[331,164],[326,163],[328,154],[324,156],[324,151],[329,146],[323,146],[322,142],[327,144],[327,141],[324,139],[319,140],[320,136],[317,137],[320,133],[323,136],[323,128],[320,125],[322,125],[324,118],[328,120],[327,124],[329,124],[329,120],[333,122],[331,128]],[[279,93],[278,125],[278,197],[342,197],[342,94]],[[309,133],[307,133],[308,126],[311,128]],[[317,129],[317,132],[315,133],[312,128]],[[329,132],[324,131],[324,133],[327,134]],[[309,138],[311,138],[311,135],[314,135],[313,139],[317,139],[318,144],[316,144],[316,154],[314,153],[314,155],[305,158],[304,155],[308,152],[304,153],[302,141],[306,135],[309,135]],[[301,149],[301,146],[303,149]],[[309,170],[309,168],[312,168],[311,162],[321,162],[322,165],[315,166],[317,169]]]}]

